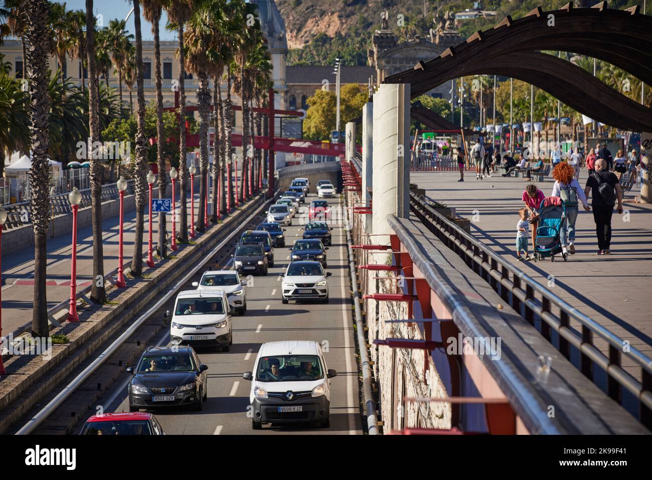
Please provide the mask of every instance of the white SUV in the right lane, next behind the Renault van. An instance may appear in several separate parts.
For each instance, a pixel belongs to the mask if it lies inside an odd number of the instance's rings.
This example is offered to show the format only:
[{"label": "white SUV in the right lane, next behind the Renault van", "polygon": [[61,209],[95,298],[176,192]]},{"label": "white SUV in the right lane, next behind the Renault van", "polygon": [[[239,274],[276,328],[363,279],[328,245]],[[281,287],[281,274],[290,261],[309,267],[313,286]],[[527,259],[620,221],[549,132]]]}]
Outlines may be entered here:
[{"label": "white SUV in the right lane, next behind the Renault van", "polygon": [[312,260],[291,262],[282,274],[281,296],[283,303],[290,300],[319,300],[328,303],[328,280],[321,263]]}]

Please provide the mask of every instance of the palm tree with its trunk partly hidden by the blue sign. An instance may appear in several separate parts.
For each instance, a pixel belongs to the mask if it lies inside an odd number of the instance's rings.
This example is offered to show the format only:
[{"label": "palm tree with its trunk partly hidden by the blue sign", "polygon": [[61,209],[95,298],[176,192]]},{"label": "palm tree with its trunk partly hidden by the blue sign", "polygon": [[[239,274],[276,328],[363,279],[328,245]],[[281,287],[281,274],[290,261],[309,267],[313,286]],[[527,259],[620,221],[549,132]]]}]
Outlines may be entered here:
[{"label": "palm tree with its trunk partly hidden by the blue sign", "polygon": [[[158,198],[166,197],[167,175],[163,158],[163,92],[161,80],[161,52],[159,23],[163,10],[163,0],[142,0],[143,17],[152,24],[154,34],[154,69],[156,72],[156,163],[158,163]],[[174,234],[174,232],[172,232]],[[158,214],[158,254],[161,258],[168,256],[165,245],[166,215]]]}]

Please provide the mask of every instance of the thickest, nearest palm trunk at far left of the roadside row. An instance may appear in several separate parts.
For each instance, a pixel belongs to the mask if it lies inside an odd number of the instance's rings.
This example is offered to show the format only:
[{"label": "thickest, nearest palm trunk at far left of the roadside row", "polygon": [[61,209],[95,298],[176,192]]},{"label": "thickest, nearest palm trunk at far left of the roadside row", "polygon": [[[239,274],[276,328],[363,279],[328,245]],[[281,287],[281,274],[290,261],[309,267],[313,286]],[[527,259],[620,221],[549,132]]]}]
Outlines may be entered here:
[{"label": "thickest, nearest palm trunk at far left of the roadside row", "polygon": [[32,310],[32,335],[47,337],[48,299],[46,296],[46,266],[48,223],[50,213],[50,165],[48,142],[50,140],[48,112],[50,96],[48,82],[48,2],[26,0],[27,69],[30,95],[29,133],[31,135],[32,168],[29,175],[31,191],[30,209],[34,230],[34,300]]}]

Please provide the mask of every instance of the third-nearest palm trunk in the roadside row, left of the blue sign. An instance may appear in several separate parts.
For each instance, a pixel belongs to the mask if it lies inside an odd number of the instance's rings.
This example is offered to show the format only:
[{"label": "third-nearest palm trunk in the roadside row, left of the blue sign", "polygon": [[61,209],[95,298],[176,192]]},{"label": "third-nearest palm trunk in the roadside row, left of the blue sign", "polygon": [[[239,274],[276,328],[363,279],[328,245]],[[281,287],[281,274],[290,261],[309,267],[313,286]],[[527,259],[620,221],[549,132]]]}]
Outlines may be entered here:
[{"label": "third-nearest palm trunk in the roadside row, left of the blue sign", "polygon": [[136,32],[136,85],[138,111],[136,113],[136,162],[134,164],[134,193],[136,196],[136,237],[131,271],[134,277],[143,274],[143,227],[147,202],[147,146],[145,145],[145,91],[143,90],[143,42],[140,29],[140,0],[134,0],[134,31]]}]

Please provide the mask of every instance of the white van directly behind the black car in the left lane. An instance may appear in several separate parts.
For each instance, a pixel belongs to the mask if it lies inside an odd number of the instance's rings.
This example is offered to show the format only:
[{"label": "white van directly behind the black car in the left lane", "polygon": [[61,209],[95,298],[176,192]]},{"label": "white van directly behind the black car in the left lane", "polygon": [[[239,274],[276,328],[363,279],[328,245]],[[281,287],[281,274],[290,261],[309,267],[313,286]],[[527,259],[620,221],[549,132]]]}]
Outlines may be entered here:
[{"label": "white van directly behind the black car in the left lane", "polygon": [[233,344],[231,307],[224,290],[206,288],[179,292],[171,317],[170,340],[192,346],[209,345],[228,352]]}]

